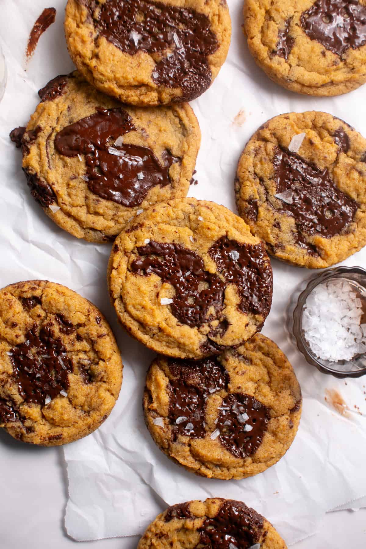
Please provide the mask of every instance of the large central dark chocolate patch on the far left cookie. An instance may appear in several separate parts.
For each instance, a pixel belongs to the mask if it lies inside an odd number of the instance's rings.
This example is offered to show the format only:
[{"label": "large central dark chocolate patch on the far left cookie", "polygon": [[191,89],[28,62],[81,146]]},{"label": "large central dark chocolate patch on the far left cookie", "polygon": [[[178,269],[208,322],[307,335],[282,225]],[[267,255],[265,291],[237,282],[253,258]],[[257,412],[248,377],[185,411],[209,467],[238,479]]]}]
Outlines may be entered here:
[{"label": "large central dark chocolate patch on the far left cookie", "polygon": [[64,345],[54,337],[50,326],[42,327],[39,334],[37,328],[37,324],[33,324],[25,335],[25,342],[10,350],[10,360],[21,397],[25,402],[44,406],[47,396],[54,399],[61,391],[67,391],[73,367]]}]

